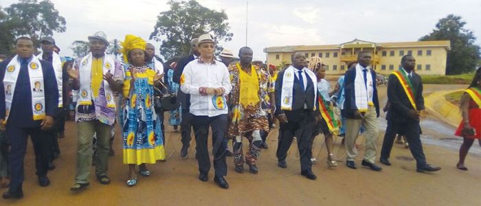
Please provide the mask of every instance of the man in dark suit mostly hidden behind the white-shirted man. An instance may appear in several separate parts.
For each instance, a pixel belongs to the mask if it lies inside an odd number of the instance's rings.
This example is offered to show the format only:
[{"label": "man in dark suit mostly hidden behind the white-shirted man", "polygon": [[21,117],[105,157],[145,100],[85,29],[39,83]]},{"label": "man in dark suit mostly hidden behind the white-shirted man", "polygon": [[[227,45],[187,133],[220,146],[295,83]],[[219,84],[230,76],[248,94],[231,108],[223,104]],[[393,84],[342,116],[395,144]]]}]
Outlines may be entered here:
[{"label": "man in dark suit mostly hidden behind the white-shirted man", "polygon": [[[194,59],[199,58],[201,55],[199,53],[199,49],[197,48],[197,42],[199,41],[198,38],[192,39],[190,41],[191,49],[190,54],[188,56],[183,56],[179,59],[179,63],[177,63],[177,67],[174,70],[174,76],[172,76],[172,80],[177,84],[181,84],[181,75],[183,72],[183,68]],[[182,141],[182,149],[181,149],[181,159],[187,159],[188,149],[190,147],[190,131],[192,125],[190,121],[192,119],[192,115],[190,115],[189,108],[190,108],[190,95],[183,93],[181,89],[177,91],[177,98],[181,103],[182,108],[182,120],[181,120],[181,141]]]}]

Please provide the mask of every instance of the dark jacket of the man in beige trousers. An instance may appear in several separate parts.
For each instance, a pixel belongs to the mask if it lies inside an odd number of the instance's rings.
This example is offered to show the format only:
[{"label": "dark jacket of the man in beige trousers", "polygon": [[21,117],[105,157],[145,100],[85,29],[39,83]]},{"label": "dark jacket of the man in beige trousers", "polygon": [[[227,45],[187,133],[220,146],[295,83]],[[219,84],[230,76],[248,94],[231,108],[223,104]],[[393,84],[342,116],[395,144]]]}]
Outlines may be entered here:
[{"label": "dark jacket of the man in beige trousers", "polygon": [[[379,99],[377,98],[377,87],[376,87],[376,72],[370,69],[372,76],[372,87],[374,87],[374,93],[372,95],[372,102],[376,107],[377,117],[379,117]],[[344,76],[344,96],[346,100],[344,101],[344,109],[341,111],[342,116],[348,119],[354,118],[354,112],[357,111],[356,106],[356,96],[354,93],[354,80],[356,78],[356,69],[348,69],[346,75]]]}]

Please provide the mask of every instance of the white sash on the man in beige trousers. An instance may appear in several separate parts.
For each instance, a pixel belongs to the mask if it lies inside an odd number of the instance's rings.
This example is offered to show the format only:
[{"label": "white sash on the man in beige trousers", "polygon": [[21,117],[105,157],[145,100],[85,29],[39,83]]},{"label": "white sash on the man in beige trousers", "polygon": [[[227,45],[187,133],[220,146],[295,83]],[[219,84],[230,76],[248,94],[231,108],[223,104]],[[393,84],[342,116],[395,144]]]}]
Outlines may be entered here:
[{"label": "white sash on the man in beige trousers", "polygon": [[374,85],[372,82],[372,73],[370,67],[367,67],[366,79],[368,88],[364,84],[363,67],[357,64],[356,77],[354,79],[354,93],[356,100],[356,107],[361,112],[368,111],[368,106],[372,104],[372,95],[374,95]]}]

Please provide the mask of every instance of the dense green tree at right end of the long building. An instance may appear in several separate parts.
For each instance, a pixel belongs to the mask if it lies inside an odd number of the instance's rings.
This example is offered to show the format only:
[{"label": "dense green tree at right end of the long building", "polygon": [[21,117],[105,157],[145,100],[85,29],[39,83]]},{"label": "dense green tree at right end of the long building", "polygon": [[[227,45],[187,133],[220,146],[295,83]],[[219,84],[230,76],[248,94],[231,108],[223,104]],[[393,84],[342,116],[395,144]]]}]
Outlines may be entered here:
[{"label": "dense green tree at right end of the long building", "polygon": [[447,75],[471,72],[480,60],[480,46],[474,45],[476,37],[473,32],[464,28],[465,24],[461,16],[449,14],[436,23],[436,29],[433,32],[419,39],[419,41],[451,41],[451,50],[447,52]]}]

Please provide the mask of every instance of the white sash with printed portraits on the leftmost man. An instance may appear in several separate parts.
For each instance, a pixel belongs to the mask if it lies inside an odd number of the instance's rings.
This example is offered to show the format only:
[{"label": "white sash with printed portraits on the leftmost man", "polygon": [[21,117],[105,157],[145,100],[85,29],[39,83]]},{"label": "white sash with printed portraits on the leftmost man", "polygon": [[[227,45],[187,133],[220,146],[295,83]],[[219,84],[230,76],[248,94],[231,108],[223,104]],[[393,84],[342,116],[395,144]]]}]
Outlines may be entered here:
[{"label": "white sash with printed portraits on the leftmost man", "polygon": [[[14,56],[8,63],[5,78],[3,78],[3,87],[5,88],[5,122],[8,119],[10,108],[12,108],[12,100],[15,93],[16,80],[19,78],[20,67],[18,56]],[[30,76],[30,89],[32,90],[33,118],[34,120],[40,120],[45,117],[45,88],[42,65],[36,56],[32,56],[32,60],[28,63],[28,75]]]}]

